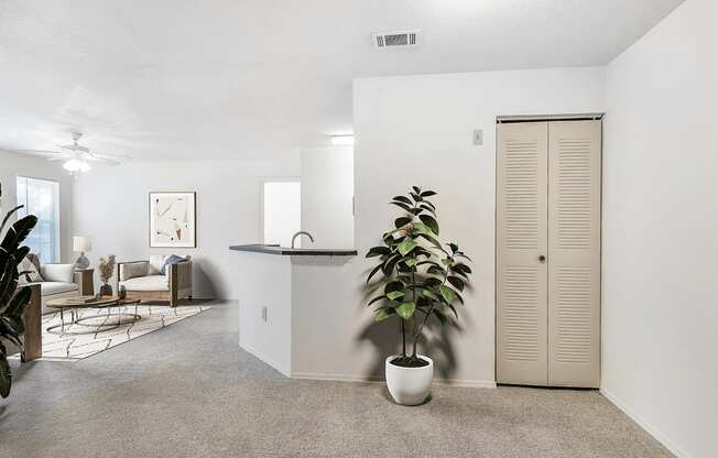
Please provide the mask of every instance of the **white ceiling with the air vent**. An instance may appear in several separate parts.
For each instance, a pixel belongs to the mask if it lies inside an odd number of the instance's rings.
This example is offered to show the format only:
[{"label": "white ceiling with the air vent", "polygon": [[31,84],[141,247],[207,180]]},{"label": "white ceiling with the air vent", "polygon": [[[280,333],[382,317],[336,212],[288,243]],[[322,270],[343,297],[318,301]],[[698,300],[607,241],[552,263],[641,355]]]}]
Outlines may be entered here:
[{"label": "white ceiling with the air vent", "polygon": [[0,148],[271,156],[351,132],[353,77],[602,65],[681,2],[0,0]]}]

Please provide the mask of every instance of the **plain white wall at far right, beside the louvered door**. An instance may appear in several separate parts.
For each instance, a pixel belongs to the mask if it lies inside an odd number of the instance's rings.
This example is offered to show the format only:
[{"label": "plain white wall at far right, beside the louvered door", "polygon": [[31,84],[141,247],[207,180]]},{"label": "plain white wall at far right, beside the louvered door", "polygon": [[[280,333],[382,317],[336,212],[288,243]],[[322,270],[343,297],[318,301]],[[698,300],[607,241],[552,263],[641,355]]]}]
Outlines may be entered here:
[{"label": "plain white wall at far right, beside the louvered door", "polygon": [[718,2],[608,67],[602,391],[682,457],[718,456]]}]

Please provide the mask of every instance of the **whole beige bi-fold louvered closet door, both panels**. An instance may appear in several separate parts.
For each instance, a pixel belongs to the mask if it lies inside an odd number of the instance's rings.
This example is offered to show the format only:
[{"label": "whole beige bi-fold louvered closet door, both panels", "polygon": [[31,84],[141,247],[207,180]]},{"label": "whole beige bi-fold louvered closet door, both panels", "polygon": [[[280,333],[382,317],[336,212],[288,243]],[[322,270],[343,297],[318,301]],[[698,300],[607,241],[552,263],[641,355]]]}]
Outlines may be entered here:
[{"label": "whole beige bi-fold louvered closet door, both panels", "polygon": [[497,381],[598,386],[600,121],[498,126]]}]

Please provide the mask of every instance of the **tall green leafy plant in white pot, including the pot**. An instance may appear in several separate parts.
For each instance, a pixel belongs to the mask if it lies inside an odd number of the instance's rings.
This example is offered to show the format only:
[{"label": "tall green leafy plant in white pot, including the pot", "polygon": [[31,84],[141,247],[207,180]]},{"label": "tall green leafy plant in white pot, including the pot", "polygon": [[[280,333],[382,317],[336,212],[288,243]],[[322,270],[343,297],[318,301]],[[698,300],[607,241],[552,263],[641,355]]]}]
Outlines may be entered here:
[{"label": "tall green leafy plant in white pot, including the pot", "polygon": [[367,253],[379,259],[367,277],[369,291],[379,292],[368,304],[377,306],[374,321],[395,318],[400,328],[401,353],[387,358],[384,366],[389,392],[403,405],[421,404],[428,396],[434,361],[417,352],[418,341],[429,319],[440,325],[458,319],[456,304],[464,303],[461,292],[471,273],[465,263],[470,259],[459,247],[439,239],[436,207],[429,200],[435,195],[413,186],[409,195],[395,196],[390,204],[402,215],[382,236],[383,243]]}]

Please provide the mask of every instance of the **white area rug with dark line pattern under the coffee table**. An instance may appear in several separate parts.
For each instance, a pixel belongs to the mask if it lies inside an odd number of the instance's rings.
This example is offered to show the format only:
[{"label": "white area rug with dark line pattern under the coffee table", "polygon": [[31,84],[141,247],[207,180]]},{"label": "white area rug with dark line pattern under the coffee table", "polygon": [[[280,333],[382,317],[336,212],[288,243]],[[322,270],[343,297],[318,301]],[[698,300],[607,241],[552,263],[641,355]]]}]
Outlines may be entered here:
[{"label": "white area rug with dark line pattern under the coffee table", "polygon": [[[79,318],[86,318],[83,323],[87,325],[117,324],[118,312],[122,313],[121,320],[126,321],[120,326],[108,329],[108,326],[98,328],[96,326],[67,325],[70,321],[69,312],[65,312],[65,334],[62,335],[61,328],[47,328],[59,325],[59,312],[43,315],[43,335],[42,335],[42,359],[75,361],[97,355],[108,348],[117,347],[140,336],[162,329],[173,323],[181,321],[191,316],[213,308],[211,305],[202,306],[177,306],[170,307],[164,305],[139,305],[137,308],[140,318],[132,323],[134,306],[112,307],[108,316],[105,309],[80,309],[77,313]],[[93,318],[96,317],[96,318]],[[84,334],[75,334],[84,332]]]}]

